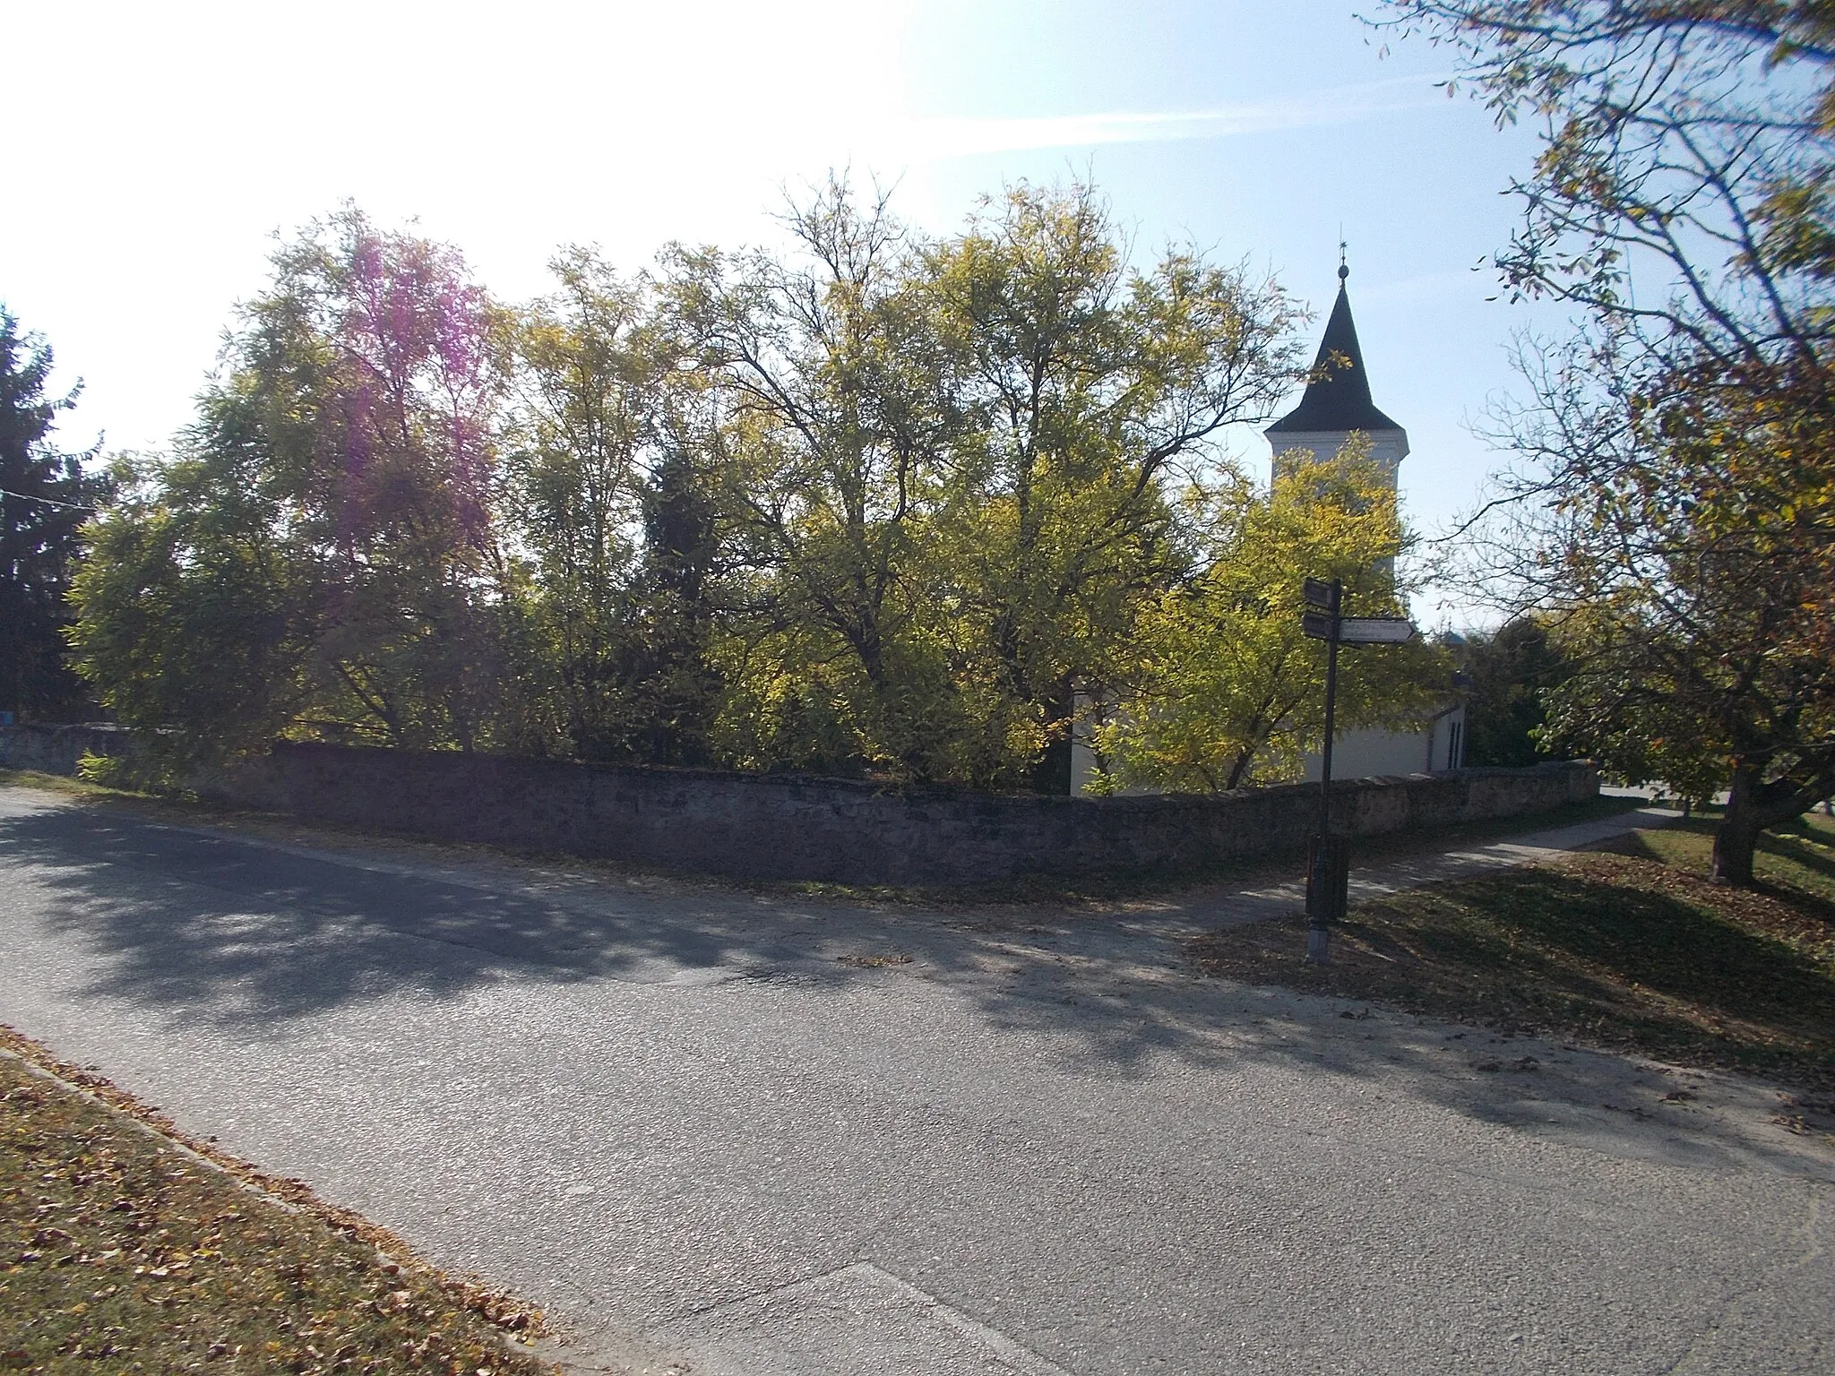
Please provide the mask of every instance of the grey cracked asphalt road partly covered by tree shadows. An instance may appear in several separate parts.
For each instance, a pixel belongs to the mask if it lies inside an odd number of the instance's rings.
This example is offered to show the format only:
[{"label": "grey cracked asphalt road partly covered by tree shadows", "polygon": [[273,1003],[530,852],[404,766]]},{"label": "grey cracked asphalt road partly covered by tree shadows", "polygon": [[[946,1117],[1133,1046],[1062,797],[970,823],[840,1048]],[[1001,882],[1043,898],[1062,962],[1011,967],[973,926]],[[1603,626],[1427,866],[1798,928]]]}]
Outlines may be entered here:
[{"label": "grey cracked asphalt road partly covered by tree shadows", "polygon": [[587,1369],[1835,1370],[1835,1154],[1773,1090],[1195,980],[1202,917],[0,787],[0,1020],[545,1303]]}]

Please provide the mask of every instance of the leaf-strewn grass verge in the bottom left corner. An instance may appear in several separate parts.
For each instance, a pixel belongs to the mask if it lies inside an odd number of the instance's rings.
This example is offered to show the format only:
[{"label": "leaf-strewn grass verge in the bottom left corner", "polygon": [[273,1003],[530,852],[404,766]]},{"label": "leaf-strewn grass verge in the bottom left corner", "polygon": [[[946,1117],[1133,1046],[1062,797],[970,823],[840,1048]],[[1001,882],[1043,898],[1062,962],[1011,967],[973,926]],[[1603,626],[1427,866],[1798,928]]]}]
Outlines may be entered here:
[{"label": "leaf-strewn grass verge in the bottom left corner", "polygon": [[552,1370],[536,1310],[161,1123],[0,1029],[0,1370]]}]

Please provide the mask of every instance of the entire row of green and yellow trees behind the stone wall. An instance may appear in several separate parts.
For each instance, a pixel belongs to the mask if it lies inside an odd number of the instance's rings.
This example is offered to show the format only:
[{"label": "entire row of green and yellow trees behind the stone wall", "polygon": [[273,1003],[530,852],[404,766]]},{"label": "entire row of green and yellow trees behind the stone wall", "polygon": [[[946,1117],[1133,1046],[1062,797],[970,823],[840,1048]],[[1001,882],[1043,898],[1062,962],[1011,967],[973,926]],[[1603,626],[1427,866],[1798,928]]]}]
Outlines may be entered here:
[{"label": "entire row of green and yellow trees behind the stone wall", "polygon": [[[510,306],[356,209],[308,226],[176,451],[121,466],[73,589],[84,673],[123,721],[218,752],[1055,793],[1079,712],[1173,692],[1147,666],[1189,660],[1180,637],[1310,692],[1290,635],[1218,609],[1253,585],[1297,635],[1299,580],[1387,567],[1400,532],[1356,455],[1272,499],[1240,472],[1229,427],[1305,376],[1275,283],[1185,246],[1136,264],[1083,185],[929,237],[833,178],[785,227],[631,275],[565,250]],[[1444,684],[1391,668],[1347,725]],[[1318,730],[1290,705],[1220,771],[1127,767],[1233,787]]]}]

